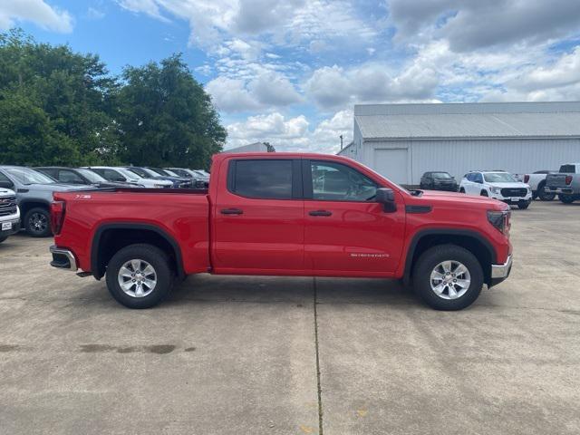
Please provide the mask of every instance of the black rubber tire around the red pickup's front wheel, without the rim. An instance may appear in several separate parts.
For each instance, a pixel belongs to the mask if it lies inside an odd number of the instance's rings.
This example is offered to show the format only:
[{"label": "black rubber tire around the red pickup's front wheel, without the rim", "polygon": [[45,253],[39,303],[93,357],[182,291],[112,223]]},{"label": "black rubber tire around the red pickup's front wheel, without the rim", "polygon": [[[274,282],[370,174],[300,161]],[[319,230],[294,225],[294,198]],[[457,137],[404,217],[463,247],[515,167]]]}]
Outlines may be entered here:
[{"label": "black rubber tire around the red pickup's front wheel, without the rim", "polygon": [[[470,283],[467,291],[457,299],[445,299],[431,288],[431,272],[444,261],[456,261],[467,267]],[[476,256],[457,245],[439,245],[425,251],[413,268],[413,288],[431,308],[444,311],[462,310],[473,304],[481,293],[483,271]],[[449,292],[448,292],[449,293]]]}]

